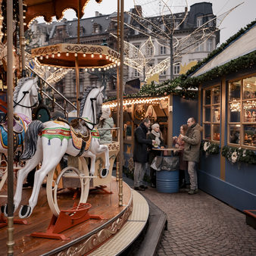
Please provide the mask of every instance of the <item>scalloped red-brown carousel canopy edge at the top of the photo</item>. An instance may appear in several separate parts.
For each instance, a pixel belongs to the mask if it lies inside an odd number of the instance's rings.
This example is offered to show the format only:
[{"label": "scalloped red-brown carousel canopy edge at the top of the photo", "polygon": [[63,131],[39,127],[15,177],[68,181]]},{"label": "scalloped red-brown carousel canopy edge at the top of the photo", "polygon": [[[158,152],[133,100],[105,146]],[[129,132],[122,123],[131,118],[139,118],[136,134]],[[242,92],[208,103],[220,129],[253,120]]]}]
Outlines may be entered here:
[{"label": "scalloped red-brown carousel canopy edge at the top of the photo", "polygon": [[[102,2],[102,0],[95,1]],[[36,17],[42,16],[46,22],[51,22],[54,16],[59,20],[67,9],[76,11],[76,16],[79,16],[78,18],[80,19],[89,0],[24,0],[23,2],[27,5],[26,18],[24,20],[27,28]]]}]

